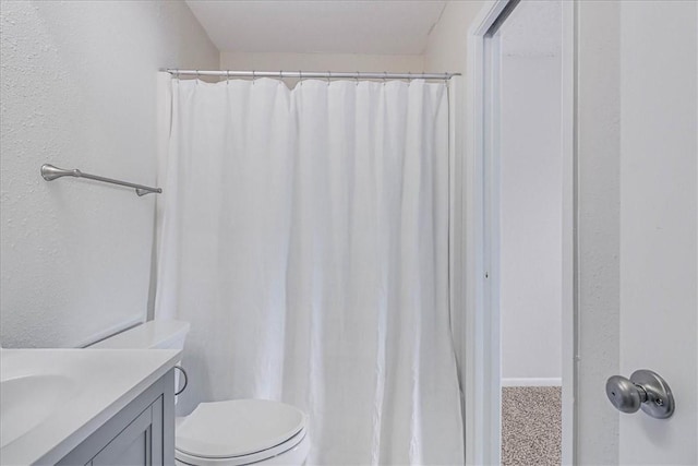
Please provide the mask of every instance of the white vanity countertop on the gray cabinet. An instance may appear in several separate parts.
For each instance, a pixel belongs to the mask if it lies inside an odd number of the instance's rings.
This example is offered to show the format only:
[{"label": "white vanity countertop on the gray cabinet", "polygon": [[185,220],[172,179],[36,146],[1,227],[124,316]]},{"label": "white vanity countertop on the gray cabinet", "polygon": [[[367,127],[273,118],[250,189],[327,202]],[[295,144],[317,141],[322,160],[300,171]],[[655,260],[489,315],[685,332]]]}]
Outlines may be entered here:
[{"label": "white vanity countertop on the gray cabinet", "polygon": [[[180,359],[180,353],[176,349],[0,349],[0,381],[44,377],[40,380],[47,383],[44,391],[36,387],[36,406],[48,414],[9,443],[5,442],[9,438],[0,438],[0,444],[7,443],[0,447],[0,464],[58,462],[167,373]],[[48,382],[56,383],[57,389]],[[11,390],[5,390],[4,396],[2,392],[0,411],[10,416],[17,407],[10,405],[13,403]],[[57,399],[47,401],[51,396]]]}]

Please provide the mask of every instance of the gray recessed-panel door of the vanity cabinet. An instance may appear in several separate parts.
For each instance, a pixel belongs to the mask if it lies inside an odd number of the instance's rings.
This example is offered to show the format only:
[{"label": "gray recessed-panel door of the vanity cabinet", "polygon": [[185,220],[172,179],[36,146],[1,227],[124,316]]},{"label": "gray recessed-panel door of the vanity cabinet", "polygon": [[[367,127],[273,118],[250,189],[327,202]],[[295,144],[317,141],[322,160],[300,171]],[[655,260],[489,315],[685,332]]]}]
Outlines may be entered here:
[{"label": "gray recessed-panel door of the vanity cabinet", "polygon": [[163,464],[158,438],[161,439],[163,397],[148,406],[93,459],[93,466]]}]

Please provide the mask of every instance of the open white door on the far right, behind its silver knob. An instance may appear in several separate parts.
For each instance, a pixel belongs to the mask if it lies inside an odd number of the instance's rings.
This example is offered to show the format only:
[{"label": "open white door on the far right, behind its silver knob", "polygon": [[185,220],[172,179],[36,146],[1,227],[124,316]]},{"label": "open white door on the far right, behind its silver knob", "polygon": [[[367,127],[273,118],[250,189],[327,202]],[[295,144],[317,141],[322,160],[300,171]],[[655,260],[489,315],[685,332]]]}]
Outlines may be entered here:
[{"label": "open white door on the far right, behind its silver knob", "polygon": [[674,392],[622,415],[622,464],[698,464],[697,2],[621,2],[621,372]]}]

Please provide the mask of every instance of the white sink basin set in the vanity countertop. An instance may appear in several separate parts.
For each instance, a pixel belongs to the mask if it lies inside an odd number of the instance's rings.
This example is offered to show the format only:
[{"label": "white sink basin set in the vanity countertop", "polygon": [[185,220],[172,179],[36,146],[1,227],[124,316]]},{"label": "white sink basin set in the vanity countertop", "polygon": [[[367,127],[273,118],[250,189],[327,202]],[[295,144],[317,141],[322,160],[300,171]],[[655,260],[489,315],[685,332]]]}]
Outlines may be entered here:
[{"label": "white sink basin set in the vanity countertop", "polygon": [[0,449],[34,429],[61,402],[73,396],[77,384],[65,375],[35,374],[0,382]]}]

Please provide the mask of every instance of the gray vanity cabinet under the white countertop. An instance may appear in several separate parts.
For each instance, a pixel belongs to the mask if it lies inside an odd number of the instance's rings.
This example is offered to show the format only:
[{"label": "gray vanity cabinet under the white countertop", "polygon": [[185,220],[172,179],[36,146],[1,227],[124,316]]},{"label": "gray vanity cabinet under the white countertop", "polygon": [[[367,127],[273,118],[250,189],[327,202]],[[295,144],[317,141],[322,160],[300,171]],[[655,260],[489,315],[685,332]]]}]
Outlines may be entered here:
[{"label": "gray vanity cabinet under the white countertop", "polygon": [[173,465],[173,370],[107,420],[58,464]]}]

